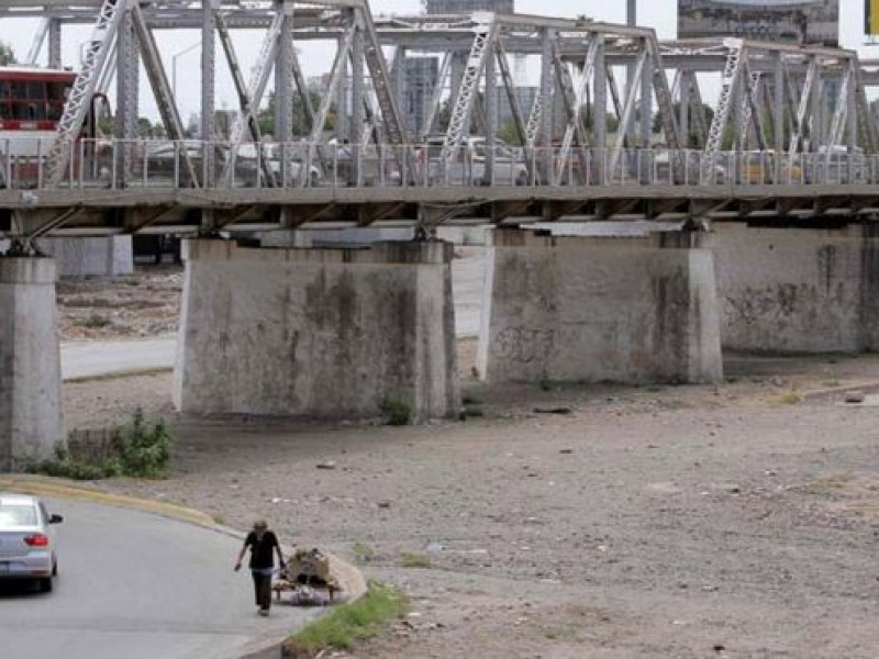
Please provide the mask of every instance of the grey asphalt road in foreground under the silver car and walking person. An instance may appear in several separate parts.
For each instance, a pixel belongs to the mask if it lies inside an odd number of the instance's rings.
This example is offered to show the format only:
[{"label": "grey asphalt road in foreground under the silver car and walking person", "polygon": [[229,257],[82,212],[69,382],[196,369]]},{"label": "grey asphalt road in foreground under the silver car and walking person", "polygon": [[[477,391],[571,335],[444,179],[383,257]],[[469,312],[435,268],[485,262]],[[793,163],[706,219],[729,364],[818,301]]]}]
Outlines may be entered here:
[{"label": "grey asphalt road in foreground under the silver car and walking person", "polygon": [[241,541],[229,535],[116,507],[48,507],[65,516],[55,590],[0,587],[1,657],[224,659],[319,613],[256,615],[249,573],[232,571]]}]

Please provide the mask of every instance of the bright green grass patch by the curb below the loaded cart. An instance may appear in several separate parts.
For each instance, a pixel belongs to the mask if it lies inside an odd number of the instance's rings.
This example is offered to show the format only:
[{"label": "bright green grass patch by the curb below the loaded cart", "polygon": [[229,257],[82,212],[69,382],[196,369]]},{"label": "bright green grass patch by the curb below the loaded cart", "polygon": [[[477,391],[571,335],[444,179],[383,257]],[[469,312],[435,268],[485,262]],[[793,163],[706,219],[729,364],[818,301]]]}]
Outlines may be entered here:
[{"label": "bright green grass patch by the curb below the loaded cart", "polygon": [[357,602],[343,604],[290,636],[281,648],[289,659],[312,659],[324,650],[352,650],[358,641],[374,638],[409,613],[409,597],[401,590],[377,582]]}]

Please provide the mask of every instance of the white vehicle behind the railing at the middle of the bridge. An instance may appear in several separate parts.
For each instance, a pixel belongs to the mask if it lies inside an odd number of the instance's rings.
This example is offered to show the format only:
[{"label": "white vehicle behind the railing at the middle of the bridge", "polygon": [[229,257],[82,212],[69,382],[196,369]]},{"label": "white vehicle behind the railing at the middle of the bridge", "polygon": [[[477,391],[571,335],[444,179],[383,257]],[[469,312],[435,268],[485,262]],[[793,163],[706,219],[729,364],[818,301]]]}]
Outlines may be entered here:
[{"label": "white vehicle behind the railing at the middle of the bridge", "polygon": [[486,171],[489,144],[485,137],[467,137],[455,147],[447,160],[442,159],[445,135],[424,141],[421,156],[426,164],[427,180],[433,185],[450,186],[525,186],[528,172],[520,150],[514,150],[502,139],[493,146],[494,164],[490,177]]}]

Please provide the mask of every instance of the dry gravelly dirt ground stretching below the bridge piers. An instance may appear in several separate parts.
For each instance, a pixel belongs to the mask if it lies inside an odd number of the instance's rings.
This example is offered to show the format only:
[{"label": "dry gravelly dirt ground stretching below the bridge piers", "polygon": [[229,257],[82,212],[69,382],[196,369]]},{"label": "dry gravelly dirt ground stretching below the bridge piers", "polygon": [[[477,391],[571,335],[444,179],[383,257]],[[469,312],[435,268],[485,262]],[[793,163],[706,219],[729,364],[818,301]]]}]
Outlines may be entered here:
[{"label": "dry gravelly dirt ground stretching below the bridge piers", "polygon": [[169,480],[100,487],[242,528],[267,516],[285,544],[405,588],[412,615],[364,659],[879,657],[879,406],[843,402],[879,358],[487,390],[474,353],[465,422],[181,418],[170,375],[66,384],[65,411],[174,424]]}]

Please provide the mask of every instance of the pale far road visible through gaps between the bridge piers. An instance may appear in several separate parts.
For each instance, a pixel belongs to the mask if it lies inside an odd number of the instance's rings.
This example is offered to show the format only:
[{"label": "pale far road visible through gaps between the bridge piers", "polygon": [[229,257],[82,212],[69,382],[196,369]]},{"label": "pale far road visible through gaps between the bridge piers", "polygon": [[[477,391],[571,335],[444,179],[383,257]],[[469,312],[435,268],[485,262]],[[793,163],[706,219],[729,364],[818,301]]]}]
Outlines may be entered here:
[{"label": "pale far road visible through gaps between the bridge piers", "polygon": [[[468,255],[452,264],[455,294],[455,333],[479,335],[485,257]],[[174,368],[177,338],[76,342],[62,345],[62,378],[92,378],[112,373]]]}]

